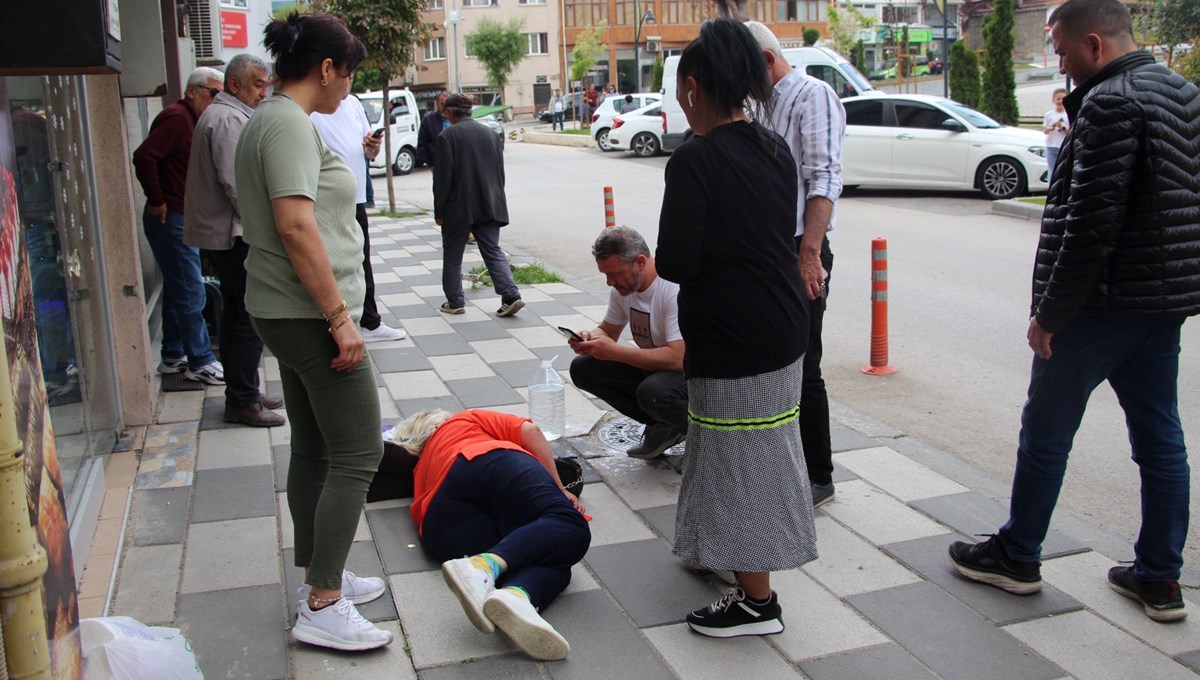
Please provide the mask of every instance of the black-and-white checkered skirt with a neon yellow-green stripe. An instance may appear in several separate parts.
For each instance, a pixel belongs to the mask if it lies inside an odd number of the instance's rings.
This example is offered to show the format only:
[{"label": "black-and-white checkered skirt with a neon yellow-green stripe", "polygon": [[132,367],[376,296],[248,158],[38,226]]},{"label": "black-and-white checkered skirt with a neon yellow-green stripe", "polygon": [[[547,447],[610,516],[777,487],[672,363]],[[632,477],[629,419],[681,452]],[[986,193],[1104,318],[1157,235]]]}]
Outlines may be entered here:
[{"label": "black-and-white checkered skirt with a neon yellow-green stripe", "polygon": [[737,379],[689,378],[674,554],[713,570],[781,571],[817,559],[800,426],[803,357]]}]

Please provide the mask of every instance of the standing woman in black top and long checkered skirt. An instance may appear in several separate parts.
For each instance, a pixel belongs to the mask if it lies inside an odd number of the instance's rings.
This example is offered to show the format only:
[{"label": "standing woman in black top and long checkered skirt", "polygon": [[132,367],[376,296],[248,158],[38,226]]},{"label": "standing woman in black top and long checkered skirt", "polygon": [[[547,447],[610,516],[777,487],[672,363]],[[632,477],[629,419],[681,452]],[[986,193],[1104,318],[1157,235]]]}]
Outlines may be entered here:
[{"label": "standing woman in black top and long checkered skirt", "polygon": [[688,614],[712,637],[784,631],[770,572],[817,558],[797,421],[808,305],[796,265],[796,163],[746,119],[772,107],[762,50],[740,22],[704,22],[679,56],[695,137],[667,162],[659,273],[679,284],[690,423],[674,554],[738,585]]}]

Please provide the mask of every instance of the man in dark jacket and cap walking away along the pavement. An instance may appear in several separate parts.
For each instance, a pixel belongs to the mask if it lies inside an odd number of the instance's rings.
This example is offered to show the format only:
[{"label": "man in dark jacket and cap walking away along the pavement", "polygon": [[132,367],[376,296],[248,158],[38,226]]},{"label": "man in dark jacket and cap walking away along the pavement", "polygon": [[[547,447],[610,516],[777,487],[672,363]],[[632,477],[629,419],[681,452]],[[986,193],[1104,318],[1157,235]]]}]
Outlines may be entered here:
[{"label": "man in dark jacket and cap walking away along the pavement", "polygon": [[500,227],[509,223],[504,197],[504,142],[470,118],[470,97],[455,92],[446,98],[450,128],[438,137],[433,154],[433,217],[442,227],[442,312],[462,314],[462,254],[474,235],[492,285],[500,296],[497,317],[511,317],[524,307],[512,281],[509,258],[500,248]]}]

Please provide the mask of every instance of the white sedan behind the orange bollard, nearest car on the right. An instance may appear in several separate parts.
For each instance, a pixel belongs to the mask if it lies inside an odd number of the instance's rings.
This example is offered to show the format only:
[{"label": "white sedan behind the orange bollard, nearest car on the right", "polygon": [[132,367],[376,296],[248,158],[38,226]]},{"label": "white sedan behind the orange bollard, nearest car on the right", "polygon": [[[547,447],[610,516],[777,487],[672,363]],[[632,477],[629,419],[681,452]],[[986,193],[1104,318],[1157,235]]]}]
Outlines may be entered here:
[{"label": "white sedan behind the orange bollard, nearest car on the right", "polygon": [[1046,191],[1039,131],[928,95],[869,94],[841,103],[847,187],[978,189],[992,200]]}]

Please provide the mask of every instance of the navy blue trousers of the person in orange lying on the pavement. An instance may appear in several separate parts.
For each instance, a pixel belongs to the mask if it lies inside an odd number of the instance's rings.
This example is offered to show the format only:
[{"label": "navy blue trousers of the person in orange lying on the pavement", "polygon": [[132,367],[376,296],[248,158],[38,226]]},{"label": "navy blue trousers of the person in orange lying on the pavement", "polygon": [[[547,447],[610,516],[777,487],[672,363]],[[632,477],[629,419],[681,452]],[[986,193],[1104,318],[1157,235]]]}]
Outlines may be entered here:
[{"label": "navy blue trousers of the person in orange lying on the pavement", "polygon": [[504,449],[455,461],[421,523],[433,559],[496,553],[509,565],[496,585],[523,589],[539,609],[571,582],[590,542],[587,520],[541,463]]}]

